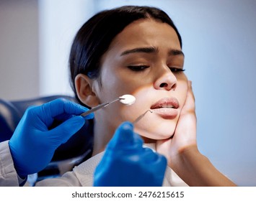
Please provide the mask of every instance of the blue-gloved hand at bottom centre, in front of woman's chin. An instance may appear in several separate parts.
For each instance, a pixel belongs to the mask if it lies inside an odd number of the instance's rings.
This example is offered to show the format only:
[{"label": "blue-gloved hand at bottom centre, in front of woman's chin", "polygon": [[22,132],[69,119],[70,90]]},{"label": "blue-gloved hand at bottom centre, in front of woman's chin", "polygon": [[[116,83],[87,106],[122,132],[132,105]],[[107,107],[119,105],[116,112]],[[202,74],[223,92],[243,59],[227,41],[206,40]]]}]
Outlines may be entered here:
[{"label": "blue-gloved hand at bottom centre, in front of woman's chin", "polygon": [[94,172],[96,187],[162,186],[167,159],[149,148],[133,132],[133,124],[122,123],[110,140]]}]

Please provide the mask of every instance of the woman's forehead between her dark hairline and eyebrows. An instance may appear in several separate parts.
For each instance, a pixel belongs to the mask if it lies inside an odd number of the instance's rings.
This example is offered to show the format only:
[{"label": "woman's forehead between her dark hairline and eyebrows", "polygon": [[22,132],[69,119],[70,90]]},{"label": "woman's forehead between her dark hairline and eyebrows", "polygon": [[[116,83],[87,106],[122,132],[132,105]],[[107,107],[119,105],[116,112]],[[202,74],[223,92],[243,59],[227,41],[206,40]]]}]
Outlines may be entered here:
[{"label": "woman's forehead between her dark hairline and eyebrows", "polygon": [[136,47],[159,48],[159,45],[181,50],[177,33],[169,24],[154,19],[139,19],[115,36],[109,50],[123,52]]}]

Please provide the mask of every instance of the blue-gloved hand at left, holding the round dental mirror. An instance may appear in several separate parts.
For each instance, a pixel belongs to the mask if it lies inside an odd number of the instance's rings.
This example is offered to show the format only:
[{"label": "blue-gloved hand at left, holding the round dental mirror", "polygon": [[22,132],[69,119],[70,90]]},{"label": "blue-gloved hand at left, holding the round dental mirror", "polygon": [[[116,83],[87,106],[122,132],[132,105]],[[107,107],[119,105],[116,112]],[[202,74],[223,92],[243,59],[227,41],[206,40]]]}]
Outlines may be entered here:
[{"label": "blue-gloved hand at left, holding the round dental mirror", "polygon": [[[9,140],[19,177],[39,172],[48,165],[58,146],[84,125],[84,117],[79,116],[84,111],[88,109],[63,98],[27,109]],[[93,114],[85,118],[93,118]],[[55,119],[64,122],[49,130]]]}]

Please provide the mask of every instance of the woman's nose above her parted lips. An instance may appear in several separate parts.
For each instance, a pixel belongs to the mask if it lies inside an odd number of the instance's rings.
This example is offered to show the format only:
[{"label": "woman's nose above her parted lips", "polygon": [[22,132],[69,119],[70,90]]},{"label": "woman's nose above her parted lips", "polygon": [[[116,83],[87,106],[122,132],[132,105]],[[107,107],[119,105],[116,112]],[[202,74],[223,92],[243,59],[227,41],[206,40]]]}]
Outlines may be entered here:
[{"label": "woman's nose above her parted lips", "polygon": [[159,78],[157,78],[154,83],[154,88],[158,90],[175,90],[176,87],[177,78],[169,68],[162,70],[162,72],[159,73]]}]

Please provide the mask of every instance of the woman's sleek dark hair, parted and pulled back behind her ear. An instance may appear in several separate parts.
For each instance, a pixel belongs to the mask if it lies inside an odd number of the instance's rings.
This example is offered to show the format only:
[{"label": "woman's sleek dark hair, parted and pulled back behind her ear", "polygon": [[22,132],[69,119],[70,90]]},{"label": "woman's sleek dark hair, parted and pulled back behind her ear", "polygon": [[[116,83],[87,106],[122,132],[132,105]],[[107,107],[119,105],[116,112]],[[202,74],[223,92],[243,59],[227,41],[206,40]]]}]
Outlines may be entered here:
[{"label": "woman's sleek dark hair, parted and pulled back behind her ear", "polygon": [[74,84],[76,75],[82,73],[92,79],[99,78],[100,58],[107,51],[112,39],[128,24],[138,19],[156,19],[169,24],[175,29],[182,47],[182,39],[175,24],[161,9],[149,6],[122,6],[95,14],[77,32],[69,56],[71,87],[78,101]]}]

